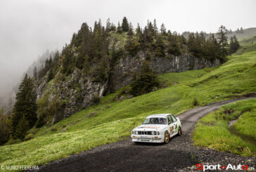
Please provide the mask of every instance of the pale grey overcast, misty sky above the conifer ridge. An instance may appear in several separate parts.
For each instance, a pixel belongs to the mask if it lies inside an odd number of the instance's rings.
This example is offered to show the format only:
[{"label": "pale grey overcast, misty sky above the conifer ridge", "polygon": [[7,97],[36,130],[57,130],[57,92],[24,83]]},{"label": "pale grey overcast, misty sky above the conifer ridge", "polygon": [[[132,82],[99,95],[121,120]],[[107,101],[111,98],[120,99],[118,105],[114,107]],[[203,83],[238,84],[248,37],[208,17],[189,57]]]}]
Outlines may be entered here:
[{"label": "pale grey overcast, misty sky above the conifer ridge", "polygon": [[172,32],[256,27],[254,0],[0,0],[0,95],[46,49],[61,50],[82,22],[126,16],[134,27],[154,18]]}]

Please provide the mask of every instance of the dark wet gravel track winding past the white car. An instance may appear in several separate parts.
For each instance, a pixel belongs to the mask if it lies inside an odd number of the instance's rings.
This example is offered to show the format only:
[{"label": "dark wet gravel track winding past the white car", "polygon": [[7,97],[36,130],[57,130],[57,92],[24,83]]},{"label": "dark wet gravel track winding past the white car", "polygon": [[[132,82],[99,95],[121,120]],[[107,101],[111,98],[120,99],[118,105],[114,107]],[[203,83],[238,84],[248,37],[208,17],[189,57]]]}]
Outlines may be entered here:
[{"label": "dark wet gravel track winding past the white car", "polygon": [[122,140],[53,161],[40,166],[39,171],[196,171],[192,166],[198,163],[245,164],[256,168],[256,157],[195,147],[191,141],[198,119],[222,105],[241,99],[215,102],[179,114],[183,135],[175,136],[167,145],[134,144],[130,139]]}]

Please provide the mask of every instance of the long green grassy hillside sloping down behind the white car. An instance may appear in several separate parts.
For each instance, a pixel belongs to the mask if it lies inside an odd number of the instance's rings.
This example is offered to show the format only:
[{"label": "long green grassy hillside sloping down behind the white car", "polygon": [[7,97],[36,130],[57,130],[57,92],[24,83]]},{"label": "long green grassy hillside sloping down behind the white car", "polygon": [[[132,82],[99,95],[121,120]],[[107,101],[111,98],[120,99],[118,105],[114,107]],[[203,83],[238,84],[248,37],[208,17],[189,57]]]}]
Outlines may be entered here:
[{"label": "long green grassy hillside sloping down behind the white car", "polygon": [[31,140],[0,147],[1,165],[45,164],[91,147],[127,138],[148,114],[179,114],[200,105],[256,92],[256,51],[229,56],[220,67],[162,74],[167,86],[136,98],[117,100],[126,88],[107,95],[98,105],[53,126],[30,131]]}]

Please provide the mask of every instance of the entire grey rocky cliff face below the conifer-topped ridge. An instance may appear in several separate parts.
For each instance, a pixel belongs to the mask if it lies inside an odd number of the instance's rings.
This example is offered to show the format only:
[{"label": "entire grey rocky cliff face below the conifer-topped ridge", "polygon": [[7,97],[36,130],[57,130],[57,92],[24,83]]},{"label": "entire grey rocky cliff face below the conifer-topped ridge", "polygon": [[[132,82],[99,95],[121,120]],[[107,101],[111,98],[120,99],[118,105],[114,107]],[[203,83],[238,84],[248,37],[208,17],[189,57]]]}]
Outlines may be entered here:
[{"label": "entire grey rocky cliff face below the conifer-topped ridge", "polygon": [[[71,114],[92,105],[96,97],[103,97],[110,93],[109,90],[115,91],[123,86],[130,84],[133,72],[139,72],[142,61],[146,59],[146,55],[142,52],[136,58],[121,58],[114,68],[113,75],[105,83],[96,83],[80,70],[74,70],[68,79],[53,83],[49,95],[49,101],[53,101],[54,97],[58,100],[65,101],[63,110],[56,112],[53,123],[60,121]],[[205,59],[198,59],[193,55],[169,55],[165,58],[150,58],[148,61],[151,67],[158,74],[169,72],[184,72],[187,70],[200,70],[205,67],[213,67],[219,65],[219,60],[211,62]],[[61,74],[60,74],[61,75]],[[61,77],[61,76],[60,76]],[[111,85],[109,83],[112,83]],[[49,88],[46,86],[46,80],[43,79],[37,88],[38,98],[46,94]],[[109,88],[109,87],[113,88]]]}]

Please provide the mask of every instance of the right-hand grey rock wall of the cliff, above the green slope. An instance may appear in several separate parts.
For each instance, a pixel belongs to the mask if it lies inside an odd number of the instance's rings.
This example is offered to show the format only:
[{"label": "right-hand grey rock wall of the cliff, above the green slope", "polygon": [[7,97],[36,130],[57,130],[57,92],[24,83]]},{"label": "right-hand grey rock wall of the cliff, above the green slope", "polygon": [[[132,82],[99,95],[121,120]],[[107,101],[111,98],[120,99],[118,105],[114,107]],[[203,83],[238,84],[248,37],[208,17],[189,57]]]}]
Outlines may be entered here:
[{"label": "right-hand grey rock wall of the cliff, above the green slope", "polygon": [[[120,59],[119,64],[115,67],[113,75],[115,90],[130,84],[133,72],[139,72],[142,61],[146,59],[144,53],[139,54],[139,58],[126,57]],[[213,67],[220,64],[216,59],[214,62],[205,59],[199,59],[193,55],[169,55],[164,58],[151,58],[151,68],[158,74],[185,72],[188,70],[200,70],[205,67]]]}]

